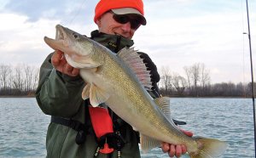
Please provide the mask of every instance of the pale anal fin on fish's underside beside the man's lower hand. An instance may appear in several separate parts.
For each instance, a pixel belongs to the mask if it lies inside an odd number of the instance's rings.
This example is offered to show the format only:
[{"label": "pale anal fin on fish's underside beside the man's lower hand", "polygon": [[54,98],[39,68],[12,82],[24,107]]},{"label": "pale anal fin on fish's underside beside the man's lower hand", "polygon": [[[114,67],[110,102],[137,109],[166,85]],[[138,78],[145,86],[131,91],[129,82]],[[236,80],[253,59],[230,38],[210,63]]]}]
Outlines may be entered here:
[{"label": "pale anal fin on fish's underside beside the man's lower hand", "polygon": [[152,150],[153,148],[160,147],[160,141],[155,140],[154,138],[150,138],[143,134],[140,134],[140,144],[144,153],[147,153],[148,150]]}]

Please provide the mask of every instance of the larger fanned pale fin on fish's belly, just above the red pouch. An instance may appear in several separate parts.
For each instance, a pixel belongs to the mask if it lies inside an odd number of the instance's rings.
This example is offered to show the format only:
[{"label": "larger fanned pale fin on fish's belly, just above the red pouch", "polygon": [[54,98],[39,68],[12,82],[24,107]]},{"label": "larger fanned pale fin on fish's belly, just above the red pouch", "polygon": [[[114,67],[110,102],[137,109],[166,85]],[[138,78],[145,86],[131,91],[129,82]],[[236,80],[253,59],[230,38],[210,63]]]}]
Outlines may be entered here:
[{"label": "larger fanned pale fin on fish's belly, just above the red pouch", "polygon": [[96,85],[94,85],[94,84],[90,85],[90,104],[93,107],[96,107],[99,104],[106,102],[108,100],[109,96],[110,96],[110,94],[107,91],[105,91],[99,87],[96,87]]}]

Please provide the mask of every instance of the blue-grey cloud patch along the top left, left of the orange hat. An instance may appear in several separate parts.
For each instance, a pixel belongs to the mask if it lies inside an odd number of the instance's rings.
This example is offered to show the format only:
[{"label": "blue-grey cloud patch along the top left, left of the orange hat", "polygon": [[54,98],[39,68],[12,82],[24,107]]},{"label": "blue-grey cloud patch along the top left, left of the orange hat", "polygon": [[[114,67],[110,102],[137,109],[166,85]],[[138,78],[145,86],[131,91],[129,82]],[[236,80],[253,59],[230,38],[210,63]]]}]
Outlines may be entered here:
[{"label": "blue-grey cloud patch along the top left, left of the orange hat", "polygon": [[60,20],[61,23],[70,23],[73,20],[84,22],[92,22],[92,20],[84,20],[84,17],[91,17],[94,13],[96,1],[77,0],[76,2],[69,0],[9,0],[4,5],[4,12],[25,15],[28,21],[35,22],[42,18],[49,20]]}]

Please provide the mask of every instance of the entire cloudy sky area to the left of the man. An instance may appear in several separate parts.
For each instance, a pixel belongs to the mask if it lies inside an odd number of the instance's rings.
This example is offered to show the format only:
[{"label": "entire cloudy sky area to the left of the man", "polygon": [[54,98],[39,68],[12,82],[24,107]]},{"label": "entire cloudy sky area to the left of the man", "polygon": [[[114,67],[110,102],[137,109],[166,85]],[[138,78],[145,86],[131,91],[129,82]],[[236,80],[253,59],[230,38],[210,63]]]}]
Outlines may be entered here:
[{"label": "entire cloudy sky area to the left of the man", "polygon": [[[93,7],[90,7],[93,3],[88,5],[85,2],[73,3],[65,0],[0,2],[3,4],[0,19],[4,21],[0,26],[0,63],[41,65],[44,58],[53,51],[44,43],[44,36],[55,37],[57,24],[90,35],[90,31],[96,29],[96,25],[92,22]],[[85,10],[90,14],[85,14]]]}]

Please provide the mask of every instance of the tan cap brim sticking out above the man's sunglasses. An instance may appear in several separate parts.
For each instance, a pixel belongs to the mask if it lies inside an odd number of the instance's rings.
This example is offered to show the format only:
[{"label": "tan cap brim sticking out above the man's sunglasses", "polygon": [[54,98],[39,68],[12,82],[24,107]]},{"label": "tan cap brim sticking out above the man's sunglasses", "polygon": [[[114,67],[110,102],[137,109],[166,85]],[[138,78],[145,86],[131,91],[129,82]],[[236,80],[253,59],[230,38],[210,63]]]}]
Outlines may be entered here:
[{"label": "tan cap brim sticking out above the man's sunglasses", "polygon": [[147,20],[137,9],[135,8],[113,8],[111,9],[114,14],[135,14],[140,17],[141,25],[146,25]]}]

